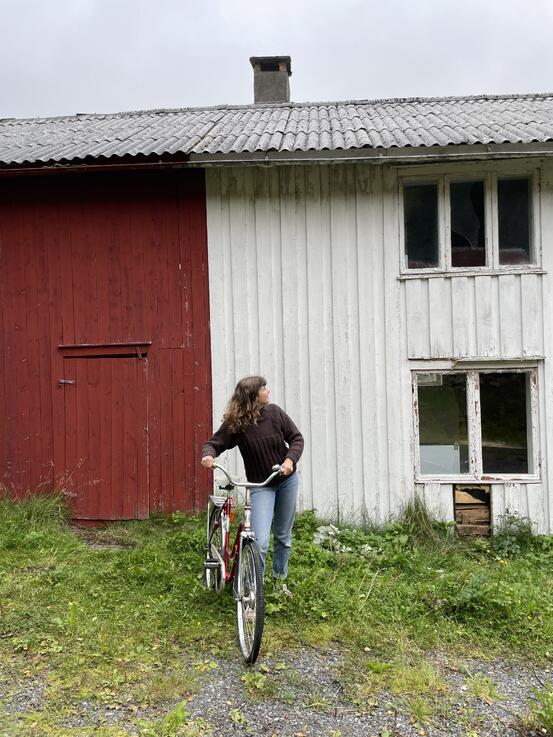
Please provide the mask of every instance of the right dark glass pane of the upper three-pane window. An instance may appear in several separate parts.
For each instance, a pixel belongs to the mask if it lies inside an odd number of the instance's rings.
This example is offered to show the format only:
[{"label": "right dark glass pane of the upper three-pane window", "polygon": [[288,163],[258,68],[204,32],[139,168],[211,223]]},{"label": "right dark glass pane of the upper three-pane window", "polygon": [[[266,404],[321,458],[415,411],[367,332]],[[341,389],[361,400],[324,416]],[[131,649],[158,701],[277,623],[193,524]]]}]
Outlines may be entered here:
[{"label": "right dark glass pane of the upper three-pane window", "polygon": [[530,262],[530,180],[498,179],[499,263]]}]

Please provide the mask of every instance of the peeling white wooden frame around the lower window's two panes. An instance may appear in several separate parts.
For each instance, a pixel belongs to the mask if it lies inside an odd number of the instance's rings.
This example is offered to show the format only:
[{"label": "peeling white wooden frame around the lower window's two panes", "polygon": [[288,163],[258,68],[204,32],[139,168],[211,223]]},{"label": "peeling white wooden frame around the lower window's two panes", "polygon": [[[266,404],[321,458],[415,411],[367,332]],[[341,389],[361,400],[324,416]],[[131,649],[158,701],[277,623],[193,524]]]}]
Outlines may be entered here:
[{"label": "peeling white wooden frame around the lower window's two panes", "polygon": [[[468,457],[469,472],[466,474],[423,474],[420,471],[420,435],[419,435],[419,403],[418,403],[418,376],[419,374],[436,373],[445,375],[464,375],[467,381],[467,430],[468,430]],[[482,432],[480,412],[480,374],[490,373],[523,373],[528,375],[528,388],[530,391],[527,402],[527,432],[530,443],[530,456],[532,473],[520,474],[484,474],[482,470]],[[466,482],[539,482],[540,481],[540,452],[538,448],[538,369],[537,366],[512,367],[479,367],[459,368],[453,370],[428,368],[417,368],[411,371],[412,395],[413,395],[413,467],[416,482],[444,482],[444,483],[466,483]]]}]

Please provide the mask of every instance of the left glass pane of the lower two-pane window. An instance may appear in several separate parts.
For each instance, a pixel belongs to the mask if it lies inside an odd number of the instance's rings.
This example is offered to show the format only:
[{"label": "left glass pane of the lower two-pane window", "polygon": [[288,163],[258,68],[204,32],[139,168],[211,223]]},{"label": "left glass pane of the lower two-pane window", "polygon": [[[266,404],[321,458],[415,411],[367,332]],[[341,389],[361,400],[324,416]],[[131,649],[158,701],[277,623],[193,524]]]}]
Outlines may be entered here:
[{"label": "left glass pane of the lower two-pane window", "polygon": [[468,473],[466,376],[426,377],[418,382],[421,473]]}]

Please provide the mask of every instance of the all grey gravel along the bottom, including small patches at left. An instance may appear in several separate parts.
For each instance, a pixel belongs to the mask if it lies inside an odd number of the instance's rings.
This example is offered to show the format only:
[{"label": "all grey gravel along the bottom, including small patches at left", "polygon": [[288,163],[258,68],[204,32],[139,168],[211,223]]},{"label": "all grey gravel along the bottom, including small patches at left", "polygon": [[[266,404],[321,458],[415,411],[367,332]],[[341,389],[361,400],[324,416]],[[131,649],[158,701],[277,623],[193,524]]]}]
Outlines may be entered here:
[{"label": "all grey gravel along the bottom, including small patches at left", "polygon": [[[521,718],[528,710],[532,689],[543,689],[553,681],[548,668],[504,660],[476,660],[427,655],[434,669],[447,684],[436,701],[429,721],[414,723],[405,696],[389,692],[374,694],[369,702],[354,704],[347,698],[341,682],[347,667],[347,653],[333,649],[304,648],[261,659],[255,667],[235,659],[210,657],[199,673],[200,688],[189,700],[191,718],[209,724],[212,737],[511,737],[527,734]],[[186,658],[187,667],[191,661]],[[467,679],[477,676],[493,684],[497,698],[477,698]],[[23,715],[43,706],[44,682],[29,678],[14,688],[0,679],[1,713]],[[6,696],[9,693],[9,699]],[[82,702],[67,726],[78,730],[97,724],[118,723],[129,734],[136,734],[137,718],[153,720],[167,713],[176,703],[163,709],[129,711],[102,708]],[[10,732],[9,734],[13,734]],[[75,731],[75,734],[78,734]],[[202,734],[204,734],[202,732]],[[25,737],[27,737],[25,735]]]}]

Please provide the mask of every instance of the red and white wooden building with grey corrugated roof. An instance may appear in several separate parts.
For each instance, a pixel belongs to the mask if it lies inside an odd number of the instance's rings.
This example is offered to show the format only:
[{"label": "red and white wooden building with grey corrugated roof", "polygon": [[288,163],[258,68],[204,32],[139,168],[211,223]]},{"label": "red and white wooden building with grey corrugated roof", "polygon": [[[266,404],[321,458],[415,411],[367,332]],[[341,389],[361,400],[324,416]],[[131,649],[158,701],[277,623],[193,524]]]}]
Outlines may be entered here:
[{"label": "red and white wooden building with grey corrugated roof", "polygon": [[4,483],[191,508],[262,373],[304,508],[551,531],[552,142],[550,95],[0,122]]}]

